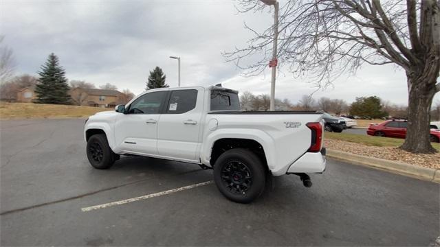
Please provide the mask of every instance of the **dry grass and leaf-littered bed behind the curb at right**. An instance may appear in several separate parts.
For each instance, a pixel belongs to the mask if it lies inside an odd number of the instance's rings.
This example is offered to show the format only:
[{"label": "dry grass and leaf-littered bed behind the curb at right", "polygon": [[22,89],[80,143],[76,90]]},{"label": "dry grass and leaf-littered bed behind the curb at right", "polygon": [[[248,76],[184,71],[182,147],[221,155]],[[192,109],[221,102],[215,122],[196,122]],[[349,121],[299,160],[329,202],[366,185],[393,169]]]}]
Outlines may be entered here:
[{"label": "dry grass and leaf-littered bed behind the curb at right", "polygon": [[325,146],[333,150],[440,169],[440,143],[432,143],[439,151],[437,154],[412,154],[399,150],[402,143],[404,139],[325,132]]}]

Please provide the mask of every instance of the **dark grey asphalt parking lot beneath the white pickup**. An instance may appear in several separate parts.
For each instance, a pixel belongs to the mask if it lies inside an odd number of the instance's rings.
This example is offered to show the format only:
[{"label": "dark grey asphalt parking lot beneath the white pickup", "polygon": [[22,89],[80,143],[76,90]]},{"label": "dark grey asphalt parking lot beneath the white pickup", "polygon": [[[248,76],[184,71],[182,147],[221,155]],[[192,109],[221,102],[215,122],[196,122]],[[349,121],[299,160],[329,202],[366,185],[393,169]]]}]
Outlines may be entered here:
[{"label": "dark grey asphalt parking lot beneath the white pickup", "polygon": [[93,169],[84,119],[0,124],[1,246],[428,246],[439,235],[436,183],[329,160],[309,189],[283,176],[236,204],[210,183],[159,193],[212,180],[197,165],[133,156]]}]

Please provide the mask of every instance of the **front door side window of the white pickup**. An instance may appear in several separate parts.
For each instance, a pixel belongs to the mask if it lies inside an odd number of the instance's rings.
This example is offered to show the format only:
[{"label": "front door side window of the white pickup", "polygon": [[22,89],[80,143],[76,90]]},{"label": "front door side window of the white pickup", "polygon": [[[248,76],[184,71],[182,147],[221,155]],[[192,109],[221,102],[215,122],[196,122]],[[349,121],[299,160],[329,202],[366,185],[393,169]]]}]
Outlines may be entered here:
[{"label": "front door side window of the white pickup", "polygon": [[129,106],[129,114],[159,114],[167,91],[146,93]]}]

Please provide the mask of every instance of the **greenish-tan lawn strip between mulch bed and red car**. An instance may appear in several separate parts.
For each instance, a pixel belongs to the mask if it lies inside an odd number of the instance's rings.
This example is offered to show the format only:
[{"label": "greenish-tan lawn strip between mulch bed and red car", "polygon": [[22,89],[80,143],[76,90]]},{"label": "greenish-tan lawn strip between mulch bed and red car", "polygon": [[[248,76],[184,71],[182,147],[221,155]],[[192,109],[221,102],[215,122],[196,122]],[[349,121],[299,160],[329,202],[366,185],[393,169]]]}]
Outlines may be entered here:
[{"label": "greenish-tan lawn strip between mulch bed and red car", "polygon": [[[335,133],[335,132],[325,132],[324,138],[349,141],[353,143],[361,143],[363,145],[371,145],[375,147],[399,147],[399,145],[404,143],[404,139],[397,139],[391,137],[373,137],[363,134],[348,134],[348,133]],[[431,143],[432,147],[440,151],[440,143]]]}]

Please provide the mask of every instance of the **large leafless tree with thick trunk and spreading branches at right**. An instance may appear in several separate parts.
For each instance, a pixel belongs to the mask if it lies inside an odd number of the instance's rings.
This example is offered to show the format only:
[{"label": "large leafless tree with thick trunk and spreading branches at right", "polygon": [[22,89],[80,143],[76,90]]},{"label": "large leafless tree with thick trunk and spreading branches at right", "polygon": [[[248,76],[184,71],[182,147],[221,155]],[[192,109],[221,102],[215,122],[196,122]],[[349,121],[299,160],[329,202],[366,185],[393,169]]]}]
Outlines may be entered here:
[{"label": "large leafless tree with thick trunk and spreading branches at right", "polygon": [[[255,0],[241,0],[241,6],[242,12],[267,8]],[[248,47],[224,56],[245,73],[261,73],[272,56],[273,29],[259,33],[245,27],[255,34]],[[309,75],[320,87],[363,64],[403,69],[409,121],[401,149],[436,152],[429,141],[428,116],[440,91],[440,1],[289,0],[280,10],[279,30],[278,62],[288,63],[294,75]],[[249,56],[259,60],[241,64]]]}]

